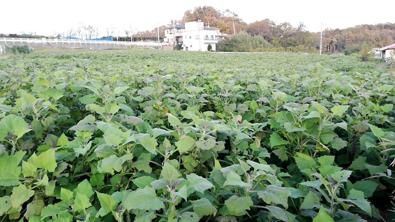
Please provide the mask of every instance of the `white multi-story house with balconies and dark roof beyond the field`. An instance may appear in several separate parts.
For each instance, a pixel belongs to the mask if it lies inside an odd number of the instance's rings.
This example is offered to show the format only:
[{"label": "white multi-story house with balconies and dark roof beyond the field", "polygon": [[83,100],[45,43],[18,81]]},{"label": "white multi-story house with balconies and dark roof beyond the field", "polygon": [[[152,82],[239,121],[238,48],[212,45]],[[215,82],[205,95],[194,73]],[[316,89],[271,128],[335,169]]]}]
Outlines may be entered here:
[{"label": "white multi-story house with balconies and dark roof beyond the field", "polygon": [[165,29],[166,37],[163,44],[180,44],[183,50],[189,51],[207,51],[207,47],[211,45],[211,49],[215,50],[218,40],[226,36],[220,30],[220,28],[204,26],[203,22],[175,24],[174,27],[169,26]]}]

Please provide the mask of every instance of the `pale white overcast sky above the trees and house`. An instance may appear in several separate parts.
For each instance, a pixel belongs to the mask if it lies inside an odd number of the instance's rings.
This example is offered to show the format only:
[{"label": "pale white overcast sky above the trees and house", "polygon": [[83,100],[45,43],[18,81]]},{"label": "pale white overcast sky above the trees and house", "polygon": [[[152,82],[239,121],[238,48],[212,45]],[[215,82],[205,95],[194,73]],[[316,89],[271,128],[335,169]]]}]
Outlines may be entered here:
[{"label": "pale white overcast sky above the trees and house", "polygon": [[[366,3],[365,3],[366,2]],[[39,35],[59,33],[80,25],[99,27],[100,36],[111,25],[118,30],[151,30],[157,24],[181,19],[184,12],[196,6],[230,9],[246,23],[270,19],[276,23],[305,23],[307,30],[347,28],[357,24],[395,23],[394,0],[14,0],[0,4],[0,33],[36,32]],[[205,21],[207,22],[207,21]],[[124,33],[123,31],[121,32]]]}]

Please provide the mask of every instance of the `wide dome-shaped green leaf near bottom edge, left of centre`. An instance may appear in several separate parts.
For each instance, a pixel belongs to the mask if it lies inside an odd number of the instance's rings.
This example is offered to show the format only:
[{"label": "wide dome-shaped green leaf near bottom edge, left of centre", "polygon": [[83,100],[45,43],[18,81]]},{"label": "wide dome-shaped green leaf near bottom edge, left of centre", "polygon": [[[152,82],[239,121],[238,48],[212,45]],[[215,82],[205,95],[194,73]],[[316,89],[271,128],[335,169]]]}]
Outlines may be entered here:
[{"label": "wide dome-shaped green leaf near bottom edge, left of centre", "polygon": [[124,200],[123,206],[129,211],[131,209],[157,211],[164,208],[162,201],[156,196],[155,190],[148,186],[130,192],[128,198]]}]

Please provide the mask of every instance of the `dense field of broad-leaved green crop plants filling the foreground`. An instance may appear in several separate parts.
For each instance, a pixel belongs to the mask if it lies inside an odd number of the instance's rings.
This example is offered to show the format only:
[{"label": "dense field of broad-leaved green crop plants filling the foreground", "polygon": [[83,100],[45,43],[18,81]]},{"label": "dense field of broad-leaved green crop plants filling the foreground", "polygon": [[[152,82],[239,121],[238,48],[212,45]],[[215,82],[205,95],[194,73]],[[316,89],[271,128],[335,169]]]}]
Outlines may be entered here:
[{"label": "dense field of broad-leaved green crop plants filling the foreground", "polygon": [[391,221],[394,74],[352,56],[0,58],[0,222]]}]

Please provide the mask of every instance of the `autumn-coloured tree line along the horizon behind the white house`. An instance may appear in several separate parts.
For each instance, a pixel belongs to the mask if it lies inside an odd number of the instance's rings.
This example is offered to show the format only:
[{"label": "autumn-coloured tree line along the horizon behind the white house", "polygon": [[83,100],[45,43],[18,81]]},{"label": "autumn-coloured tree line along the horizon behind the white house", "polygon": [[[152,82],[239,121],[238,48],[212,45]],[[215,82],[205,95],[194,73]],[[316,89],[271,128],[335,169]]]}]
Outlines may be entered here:
[{"label": "autumn-coloured tree line along the horizon behind the white house", "polygon": [[[306,26],[300,23],[292,26],[288,22],[276,24],[270,19],[263,19],[253,23],[246,23],[235,12],[228,9],[221,11],[212,6],[198,6],[193,10],[185,11],[184,16],[175,20],[175,24],[184,24],[190,21],[203,21],[205,25],[221,28],[222,33],[232,34],[218,44],[217,50],[222,51],[267,51],[267,48],[282,48],[282,51],[318,50],[320,44],[320,32],[310,32]],[[235,32],[233,33],[233,23]],[[171,26],[173,21],[159,26],[160,36],[165,35],[165,28]],[[116,41],[140,41],[154,40],[158,38],[158,28],[132,33],[128,28],[117,29],[107,27],[102,38],[113,36]],[[71,28],[70,30],[54,33],[51,38],[76,37],[76,38],[100,38],[100,30],[90,25]],[[236,35],[235,35],[236,34]],[[17,34],[9,34],[9,37],[26,38]],[[229,35],[230,36],[230,35]],[[6,37],[6,36],[1,36]],[[37,36],[32,36],[36,38]],[[394,43],[395,23],[361,24],[345,29],[326,28],[323,31],[324,53],[337,53],[347,51],[350,53],[361,51],[366,47],[383,47]],[[280,49],[276,49],[280,51]]]}]

